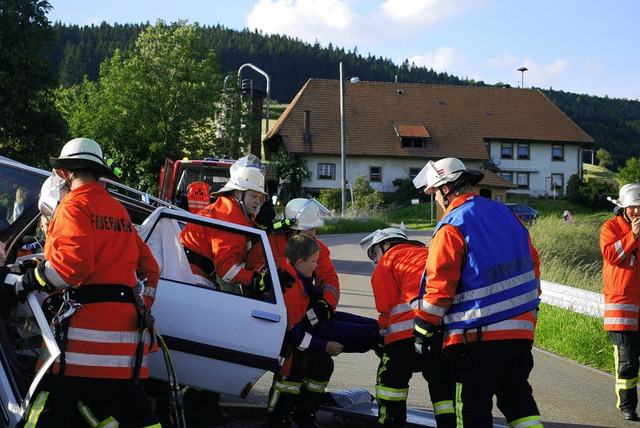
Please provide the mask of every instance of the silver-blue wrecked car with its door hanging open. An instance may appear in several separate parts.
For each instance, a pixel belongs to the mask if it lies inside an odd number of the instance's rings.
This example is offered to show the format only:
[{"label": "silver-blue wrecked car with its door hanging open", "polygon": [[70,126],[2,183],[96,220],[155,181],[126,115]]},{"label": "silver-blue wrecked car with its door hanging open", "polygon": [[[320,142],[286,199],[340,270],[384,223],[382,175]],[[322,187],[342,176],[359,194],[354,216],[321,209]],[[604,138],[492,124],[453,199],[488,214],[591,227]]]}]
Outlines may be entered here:
[{"label": "silver-blue wrecked car with its door hanging open", "polygon": [[[49,171],[0,156],[0,241],[6,246],[7,263],[19,263],[28,243],[35,242],[40,247],[35,252],[42,252],[45,237],[39,231],[37,205],[41,185],[49,175]],[[191,214],[109,180],[103,183],[127,208],[161,267],[152,313],[180,385],[246,397],[266,371],[279,367],[287,323],[266,234]],[[17,193],[21,197],[16,197]],[[22,206],[18,207],[19,203]],[[254,245],[262,243],[274,284],[270,293],[256,299],[219,291],[198,281],[178,239],[187,223],[248,236]],[[8,276],[5,292],[17,278]],[[0,300],[0,427],[15,426],[28,407],[47,368],[35,371],[40,352],[48,351],[50,362],[59,353],[41,308],[46,296],[37,294],[31,293],[19,308],[7,307]],[[43,345],[47,351],[41,351]],[[162,352],[150,355],[151,378],[168,379],[165,360]]]}]

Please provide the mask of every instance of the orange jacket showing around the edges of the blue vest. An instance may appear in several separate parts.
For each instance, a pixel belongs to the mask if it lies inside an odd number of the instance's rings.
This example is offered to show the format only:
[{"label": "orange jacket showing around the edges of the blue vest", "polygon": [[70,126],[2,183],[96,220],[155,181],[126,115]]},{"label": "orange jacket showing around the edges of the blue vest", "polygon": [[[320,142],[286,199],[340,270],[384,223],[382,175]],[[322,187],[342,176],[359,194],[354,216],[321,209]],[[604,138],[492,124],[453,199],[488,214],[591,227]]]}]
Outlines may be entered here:
[{"label": "orange jacket showing around the edges of the blue vest", "polygon": [[[469,198],[478,197],[476,193],[468,193],[455,199],[444,212],[446,216],[450,211],[464,204]],[[482,215],[482,213],[479,213]],[[517,217],[515,218],[517,221]],[[524,226],[523,226],[524,227]],[[529,247],[533,261],[535,277],[540,279],[540,257],[531,243]],[[426,294],[422,299],[420,318],[433,325],[439,325],[448,308],[456,297],[458,283],[462,276],[463,264],[466,261],[468,251],[467,241],[462,232],[455,226],[445,224],[433,235],[429,244],[429,257],[426,269],[428,278],[426,282]],[[538,282],[538,295],[540,286]],[[533,340],[536,326],[536,311],[531,310],[514,316],[504,321],[499,321],[481,328],[469,330],[451,330],[444,332],[443,347],[463,343],[465,340],[474,341],[480,331],[481,339],[505,340],[528,339]]]}]

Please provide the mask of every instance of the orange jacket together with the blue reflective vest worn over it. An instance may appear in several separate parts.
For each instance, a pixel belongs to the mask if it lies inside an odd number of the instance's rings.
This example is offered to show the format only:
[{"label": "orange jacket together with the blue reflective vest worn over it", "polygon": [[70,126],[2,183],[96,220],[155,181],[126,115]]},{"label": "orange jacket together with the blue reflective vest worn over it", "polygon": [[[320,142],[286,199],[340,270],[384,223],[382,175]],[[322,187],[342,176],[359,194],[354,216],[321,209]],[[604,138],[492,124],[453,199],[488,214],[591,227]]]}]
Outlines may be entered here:
[{"label": "orange jacket together with the blue reflective vest worn over it", "polygon": [[444,346],[463,341],[458,331],[483,326],[482,340],[533,340],[539,266],[526,227],[504,204],[463,195],[436,226],[419,316],[442,321]]}]

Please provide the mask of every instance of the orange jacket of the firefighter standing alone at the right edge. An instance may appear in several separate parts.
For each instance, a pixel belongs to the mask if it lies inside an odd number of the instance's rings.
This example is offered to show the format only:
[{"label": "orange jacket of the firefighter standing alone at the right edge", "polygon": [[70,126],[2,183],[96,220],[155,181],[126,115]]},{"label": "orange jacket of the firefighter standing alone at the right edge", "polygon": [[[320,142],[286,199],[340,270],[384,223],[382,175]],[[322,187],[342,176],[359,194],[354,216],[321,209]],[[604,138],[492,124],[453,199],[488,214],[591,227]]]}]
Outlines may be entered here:
[{"label": "orange jacket of the firefighter standing alone at the right edge", "polygon": [[631,224],[622,215],[607,220],[600,229],[600,251],[604,259],[604,329],[638,331],[640,264],[638,241]]}]

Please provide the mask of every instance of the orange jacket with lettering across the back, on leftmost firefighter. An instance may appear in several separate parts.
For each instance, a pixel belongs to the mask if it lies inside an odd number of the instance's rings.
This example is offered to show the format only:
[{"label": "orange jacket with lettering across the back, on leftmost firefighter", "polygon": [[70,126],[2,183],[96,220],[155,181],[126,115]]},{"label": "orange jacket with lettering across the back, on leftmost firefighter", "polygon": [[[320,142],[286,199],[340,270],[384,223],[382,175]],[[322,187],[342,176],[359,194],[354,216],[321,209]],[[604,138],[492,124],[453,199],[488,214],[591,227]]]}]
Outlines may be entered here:
[{"label": "orange jacket with lettering across the back, on leftmost firefighter", "polygon": [[[45,259],[45,276],[57,288],[133,288],[137,278],[146,278],[145,304],[153,304],[158,263],[125,208],[99,182],[84,184],[61,201],[47,232]],[[133,303],[84,304],[69,318],[65,375],[132,378],[141,334]],[[149,343],[148,332],[144,335]],[[144,346],[141,378],[148,377],[147,353]],[[54,373],[59,372],[58,362]]]}]

